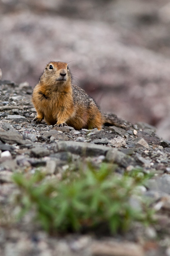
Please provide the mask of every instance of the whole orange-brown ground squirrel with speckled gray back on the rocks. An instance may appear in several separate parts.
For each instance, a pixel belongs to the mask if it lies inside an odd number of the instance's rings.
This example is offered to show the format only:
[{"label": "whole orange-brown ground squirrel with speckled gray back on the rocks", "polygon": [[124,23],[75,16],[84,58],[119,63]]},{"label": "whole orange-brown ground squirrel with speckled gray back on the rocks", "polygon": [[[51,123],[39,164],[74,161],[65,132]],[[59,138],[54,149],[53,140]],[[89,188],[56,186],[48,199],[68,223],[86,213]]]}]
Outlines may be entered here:
[{"label": "whole orange-brown ground squirrel with speckled gray back on the rocks", "polygon": [[46,65],[39,83],[34,87],[32,102],[37,111],[34,118],[36,123],[45,119],[49,125],[69,125],[76,130],[101,130],[105,122],[116,125],[115,115],[114,120],[111,120],[102,114],[84,90],[71,84],[71,73],[65,62],[50,62]]}]

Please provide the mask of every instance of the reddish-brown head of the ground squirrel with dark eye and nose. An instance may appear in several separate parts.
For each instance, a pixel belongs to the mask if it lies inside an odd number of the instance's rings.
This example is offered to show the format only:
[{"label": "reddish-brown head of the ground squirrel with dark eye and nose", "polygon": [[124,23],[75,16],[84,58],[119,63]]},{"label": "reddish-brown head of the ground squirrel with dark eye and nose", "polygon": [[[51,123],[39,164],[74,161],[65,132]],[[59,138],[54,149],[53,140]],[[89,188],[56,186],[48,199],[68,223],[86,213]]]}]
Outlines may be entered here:
[{"label": "reddish-brown head of the ground squirrel with dark eye and nose", "polygon": [[68,64],[60,61],[49,62],[42,74],[40,81],[45,84],[65,84],[71,82],[71,73]]}]

